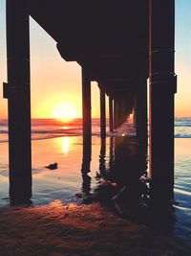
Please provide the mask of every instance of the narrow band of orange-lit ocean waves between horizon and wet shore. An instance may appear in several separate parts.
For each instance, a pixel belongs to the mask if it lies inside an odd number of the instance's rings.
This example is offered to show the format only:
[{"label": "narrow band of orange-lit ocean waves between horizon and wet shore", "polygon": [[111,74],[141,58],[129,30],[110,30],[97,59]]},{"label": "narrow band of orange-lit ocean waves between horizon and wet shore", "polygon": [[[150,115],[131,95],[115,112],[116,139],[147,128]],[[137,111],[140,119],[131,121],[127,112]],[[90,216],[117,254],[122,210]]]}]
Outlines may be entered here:
[{"label": "narrow band of orange-lit ocean waves between horizon and wet shore", "polygon": [[[108,125],[108,124],[107,124]],[[93,136],[99,135],[99,119],[93,119]],[[131,128],[131,127],[128,127]],[[107,126],[108,130],[108,126]],[[125,128],[123,128],[123,131]],[[126,132],[127,133],[127,132]],[[32,119],[32,140],[48,139],[60,136],[79,136],[82,134],[81,119],[61,121],[55,119]],[[117,135],[116,132],[113,135]],[[120,134],[120,132],[119,132]],[[132,130],[130,135],[134,135]],[[191,138],[191,118],[175,119],[175,138]],[[0,143],[8,142],[8,121],[0,121]]]}]

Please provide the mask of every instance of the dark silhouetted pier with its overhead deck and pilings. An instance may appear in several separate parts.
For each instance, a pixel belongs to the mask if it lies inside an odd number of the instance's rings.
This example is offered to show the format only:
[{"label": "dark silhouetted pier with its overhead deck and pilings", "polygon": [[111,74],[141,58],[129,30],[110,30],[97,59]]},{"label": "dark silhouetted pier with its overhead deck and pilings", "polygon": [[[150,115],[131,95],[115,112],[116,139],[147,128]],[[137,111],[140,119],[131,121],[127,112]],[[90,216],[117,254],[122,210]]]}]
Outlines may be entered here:
[{"label": "dark silhouetted pier with its overhead deck and pilings", "polygon": [[53,36],[62,58],[82,67],[83,144],[88,149],[91,81],[97,81],[100,88],[102,137],[106,134],[106,94],[110,131],[134,109],[138,142],[147,144],[149,78],[151,175],[154,183],[173,183],[174,2],[7,0],[8,84],[4,96],[9,100],[12,200],[32,195],[29,15]]}]

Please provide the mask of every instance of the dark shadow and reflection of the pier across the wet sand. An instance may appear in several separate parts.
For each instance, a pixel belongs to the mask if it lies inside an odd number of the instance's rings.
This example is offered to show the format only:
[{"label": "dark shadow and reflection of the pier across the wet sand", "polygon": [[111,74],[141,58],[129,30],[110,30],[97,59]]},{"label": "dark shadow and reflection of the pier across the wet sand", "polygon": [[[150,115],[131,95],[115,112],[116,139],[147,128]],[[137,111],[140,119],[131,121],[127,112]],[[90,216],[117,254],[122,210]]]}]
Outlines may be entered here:
[{"label": "dark shadow and reflection of the pier across the wet sand", "polygon": [[[111,137],[109,161],[106,164],[106,140],[101,139],[97,186],[91,193],[91,155],[83,155],[83,203],[99,200],[104,206],[131,221],[147,224],[162,232],[172,232],[175,216],[173,188],[153,181],[147,172],[147,146],[141,146],[135,137]],[[170,199],[169,199],[170,198]]]}]

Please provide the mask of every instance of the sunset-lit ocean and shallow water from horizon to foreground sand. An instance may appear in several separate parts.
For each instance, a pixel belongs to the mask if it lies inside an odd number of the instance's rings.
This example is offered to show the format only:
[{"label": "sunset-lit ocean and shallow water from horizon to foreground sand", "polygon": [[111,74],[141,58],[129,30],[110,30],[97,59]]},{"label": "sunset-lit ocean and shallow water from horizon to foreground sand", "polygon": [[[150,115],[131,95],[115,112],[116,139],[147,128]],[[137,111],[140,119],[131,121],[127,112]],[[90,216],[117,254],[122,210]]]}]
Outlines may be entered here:
[{"label": "sunset-lit ocean and shallow water from horizon to foreground sand", "polygon": [[[161,121],[162,122],[162,121]],[[82,168],[81,119],[59,121],[32,119],[32,203],[34,205],[78,202],[84,191],[96,190],[97,173],[109,173],[114,143],[112,138],[135,135],[132,125],[109,133],[101,148],[99,119],[93,119],[92,159],[86,178]],[[191,241],[191,118],[175,119],[175,186],[174,232]],[[45,166],[58,163],[56,170]],[[0,206],[9,203],[8,124],[0,121]]]}]

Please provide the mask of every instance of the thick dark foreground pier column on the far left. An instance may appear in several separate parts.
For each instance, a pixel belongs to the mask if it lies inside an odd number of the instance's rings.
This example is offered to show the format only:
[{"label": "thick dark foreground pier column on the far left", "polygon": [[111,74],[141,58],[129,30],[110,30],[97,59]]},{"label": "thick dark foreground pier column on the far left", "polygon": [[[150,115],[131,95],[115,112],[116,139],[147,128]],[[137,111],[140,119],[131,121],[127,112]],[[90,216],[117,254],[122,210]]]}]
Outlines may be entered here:
[{"label": "thick dark foreground pier column on the far left", "polygon": [[7,0],[9,157],[11,203],[32,197],[30,36],[28,1]]}]

